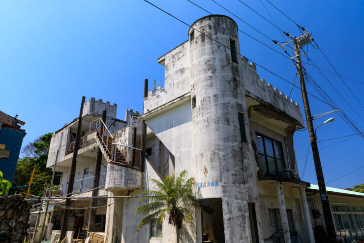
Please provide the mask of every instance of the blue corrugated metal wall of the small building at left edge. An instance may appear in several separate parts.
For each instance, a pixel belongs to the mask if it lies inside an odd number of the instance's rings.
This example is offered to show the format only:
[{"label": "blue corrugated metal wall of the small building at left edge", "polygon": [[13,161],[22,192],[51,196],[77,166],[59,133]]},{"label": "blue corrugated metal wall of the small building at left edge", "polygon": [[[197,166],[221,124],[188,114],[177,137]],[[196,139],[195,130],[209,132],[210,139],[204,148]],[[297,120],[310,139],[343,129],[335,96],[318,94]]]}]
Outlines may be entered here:
[{"label": "blue corrugated metal wall of the small building at left edge", "polygon": [[0,171],[4,179],[13,182],[16,164],[18,163],[22,147],[24,130],[2,127],[0,128],[0,143],[5,144],[5,149],[10,150],[9,158],[0,159]]}]

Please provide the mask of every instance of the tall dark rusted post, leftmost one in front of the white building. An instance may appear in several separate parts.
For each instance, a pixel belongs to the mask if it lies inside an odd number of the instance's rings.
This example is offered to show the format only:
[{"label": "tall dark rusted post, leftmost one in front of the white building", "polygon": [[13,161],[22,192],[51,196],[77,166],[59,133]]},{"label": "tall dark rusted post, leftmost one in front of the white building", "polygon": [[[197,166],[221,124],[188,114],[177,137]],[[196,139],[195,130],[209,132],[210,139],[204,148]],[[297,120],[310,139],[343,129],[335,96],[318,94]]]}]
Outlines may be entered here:
[{"label": "tall dark rusted post, leftmost one in front of the white building", "polygon": [[[78,152],[78,147],[80,145],[81,126],[82,126],[82,112],[84,110],[85,99],[86,99],[86,97],[83,96],[82,97],[82,102],[81,102],[81,108],[80,108],[80,115],[78,117],[78,126],[77,126],[77,133],[76,133],[75,148],[73,150],[71,170],[69,172],[69,178],[68,178],[68,188],[67,188],[67,194],[68,195],[72,193],[73,182],[75,180],[75,172],[76,172],[76,164],[77,164],[77,152]],[[61,236],[60,236],[61,240],[63,240],[64,237],[66,236],[67,225],[68,225],[68,214],[69,214],[69,209],[67,209],[67,207],[70,207],[70,206],[71,206],[71,200],[68,198],[68,199],[66,199],[66,203],[65,203],[66,209],[64,209],[64,211],[63,211],[62,224],[61,224]]]}]

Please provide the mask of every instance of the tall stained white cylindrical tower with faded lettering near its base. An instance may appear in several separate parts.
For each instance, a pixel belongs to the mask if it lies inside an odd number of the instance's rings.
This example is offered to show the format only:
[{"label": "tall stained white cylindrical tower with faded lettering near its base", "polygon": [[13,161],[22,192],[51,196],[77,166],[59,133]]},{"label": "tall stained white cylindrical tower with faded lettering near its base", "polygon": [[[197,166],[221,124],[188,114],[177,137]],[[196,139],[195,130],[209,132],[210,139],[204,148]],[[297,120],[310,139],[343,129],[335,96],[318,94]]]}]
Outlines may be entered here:
[{"label": "tall stained white cylindrical tower with faded lettering near its base", "polygon": [[[225,242],[250,242],[247,184],[252,181],[246,181],[244,161],[251,139],[238,26],[227,16],[209,15],[195,21],[188,34],[198,194],[222,198]],[[248,178],[256,186],[255,176]]]}]

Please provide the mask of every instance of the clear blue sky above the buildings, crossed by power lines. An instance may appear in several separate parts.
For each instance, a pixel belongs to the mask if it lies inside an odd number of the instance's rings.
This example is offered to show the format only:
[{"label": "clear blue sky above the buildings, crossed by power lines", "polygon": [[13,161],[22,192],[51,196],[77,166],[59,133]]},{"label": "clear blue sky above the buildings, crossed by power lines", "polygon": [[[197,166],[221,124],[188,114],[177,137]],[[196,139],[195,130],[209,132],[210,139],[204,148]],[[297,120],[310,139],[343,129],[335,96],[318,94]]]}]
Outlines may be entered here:
[{"label": "clear blue sky above the buildings, crossed by power lines", "polygon": [[[188,24],[207,15],[186,0],[151,0]],[[231,16],[211,0],[192,0],[213,14]],[[222,1],[227,9],[263,32],[280,41],[285,38],[272,25],[238,0]],[[271,20],[258,0],[243,0]],[[363,39],[364,2],[342,1],[274,1],[272,2],[313,34],[337,71],[364,82]],[[277,25],[291,35],[300,35],[296,26],[275,10],[264,5]],[[239,29],[277,51],[273,42],[233,17]],[[156,59],[185,41],[188,27],[160,12],[143,0],[122,1],[1,1],[0,2],[0,110],[26,122],[26,144],[78,116],[81,97],[95,97],[118,104],[118,118],[123,119],[129,105],[142,109],[144,78],[163,82],[164,68]],[[293,81],[296,69],[287,59],[240,33],[241,52],[256,63]],[[292,53],[292,52],[291,52]],[[309,46],[308,55],[319,66],[331,69],[318,50]],[[334,101],[358,124],[364,122],[338,97],[320,74],[306,66],[308,72]],[[332,69],[331,69],[332,70]],[[285,94],[292,85],[259,69],[263,77]],[[359,104],[342,81],[324,72],[346,101],[364,117]],[[364,103],[364,85],[344,79]],[[298,84],[298,80],[296,80]],[[309,92],[317,95],[310,84]],[[300,90],[294,88],[291,98],[303,108]],[[311,111],[319,114],[329,106],[309,97]],[[302,110],[303,111],[303,110]],[[318,129],[319,139],[354,134],[337,114],[314,121],[315,125],[335,117],[333,123]],[[363,131],[363,129],[361,130]],[[319,142],[326,181],[364,165],[364,141],[349,137]],[[338,144],[335,144],[340,142]],[[300,174],[303,172],[308,145],[307,131],[295,135],[295,149]],[[364,183],[364,168],[328,184],[339,188]],[[308,156],[303,178],[316,184],[312,156]]]}]

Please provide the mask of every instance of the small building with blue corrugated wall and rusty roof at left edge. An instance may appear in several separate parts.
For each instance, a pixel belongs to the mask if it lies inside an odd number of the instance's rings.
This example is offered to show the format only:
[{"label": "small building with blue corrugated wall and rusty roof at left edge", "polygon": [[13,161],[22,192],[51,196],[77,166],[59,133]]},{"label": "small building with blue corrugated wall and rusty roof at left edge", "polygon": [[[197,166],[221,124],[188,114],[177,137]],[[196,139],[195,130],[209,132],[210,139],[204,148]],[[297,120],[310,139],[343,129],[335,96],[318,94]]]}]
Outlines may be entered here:
[{"label": "small building with blue corrugated wall and rusty roof at left edge", "polygon": [[11,183],[26,135],[25,130],[20,129],[24,124],[17,116],[12,117],[0,111],[0,171],[3,178]]}]

